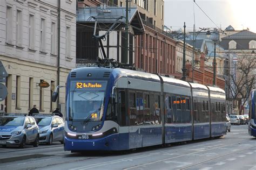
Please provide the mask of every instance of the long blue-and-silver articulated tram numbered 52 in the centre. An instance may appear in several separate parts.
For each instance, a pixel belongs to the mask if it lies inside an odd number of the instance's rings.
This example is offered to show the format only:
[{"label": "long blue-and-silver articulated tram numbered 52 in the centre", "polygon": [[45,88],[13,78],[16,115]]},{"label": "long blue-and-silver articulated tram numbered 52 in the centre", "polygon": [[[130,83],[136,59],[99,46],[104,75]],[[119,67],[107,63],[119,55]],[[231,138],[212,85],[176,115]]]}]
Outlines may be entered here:
[{"label": "long blue-and-silver articulated tram numbered 52 in the centre", "polygon": [[73,69],[64,150],[130,150],[226,134],[225,91],[122,68]]}]

